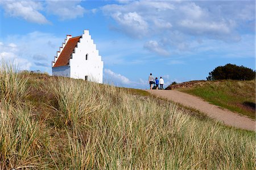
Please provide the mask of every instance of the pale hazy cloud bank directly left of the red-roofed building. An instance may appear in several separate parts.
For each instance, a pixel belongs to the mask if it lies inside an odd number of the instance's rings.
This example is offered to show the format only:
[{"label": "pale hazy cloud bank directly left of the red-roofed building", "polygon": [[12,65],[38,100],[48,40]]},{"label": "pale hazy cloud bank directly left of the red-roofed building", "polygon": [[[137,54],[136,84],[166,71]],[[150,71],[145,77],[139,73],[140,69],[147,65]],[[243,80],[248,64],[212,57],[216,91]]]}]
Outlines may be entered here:
[{"label": "pale hazy cloud bank directly left of the red-roofed building", "polygon": [[60,46],[62,42],[64,38],[38,31],[24,35],[9,35],[2,39],[0,56],[15,61],[20,69],[40,69],[50,73],[51,61],[58,50],[51,46]]}]

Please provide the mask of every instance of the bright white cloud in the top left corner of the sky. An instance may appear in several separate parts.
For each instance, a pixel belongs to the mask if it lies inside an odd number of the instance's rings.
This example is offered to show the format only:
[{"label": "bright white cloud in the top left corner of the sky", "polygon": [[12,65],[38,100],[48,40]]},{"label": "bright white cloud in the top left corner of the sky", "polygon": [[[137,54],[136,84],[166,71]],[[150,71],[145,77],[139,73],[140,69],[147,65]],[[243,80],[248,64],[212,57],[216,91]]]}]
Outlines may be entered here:
[{"label": "bright white cloud in the top left corner of the sky", "polygon": [[3,6],[7,15],[23,18],[28,22],[49,23],[46,17],[39,12],[43,10],[42,3],[39,1],[2,1],[0,5]]}]

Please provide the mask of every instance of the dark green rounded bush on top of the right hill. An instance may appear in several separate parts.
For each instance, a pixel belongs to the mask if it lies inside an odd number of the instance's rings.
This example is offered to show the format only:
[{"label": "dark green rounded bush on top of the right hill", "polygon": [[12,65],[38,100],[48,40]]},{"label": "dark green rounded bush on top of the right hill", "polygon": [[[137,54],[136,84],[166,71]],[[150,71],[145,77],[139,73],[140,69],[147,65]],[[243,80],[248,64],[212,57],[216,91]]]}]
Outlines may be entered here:
[{"label": "dark green rounded bush on top of the right hill", "polygon": [[216,67],[209,72],[207,80],[253,80],[255,79],[255,71],[253,69],[238,66],[236,64],[226,64]]}]

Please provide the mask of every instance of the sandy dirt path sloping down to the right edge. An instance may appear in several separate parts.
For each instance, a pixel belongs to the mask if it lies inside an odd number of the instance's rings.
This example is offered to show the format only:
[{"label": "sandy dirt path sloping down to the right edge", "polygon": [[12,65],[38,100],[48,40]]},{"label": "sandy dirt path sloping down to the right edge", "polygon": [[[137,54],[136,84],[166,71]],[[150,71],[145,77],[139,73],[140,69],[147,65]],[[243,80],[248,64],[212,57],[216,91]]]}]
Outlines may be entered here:
[{"label": "sandy dirt path sloping down to the right edge", "polygon": [[255,131],[255,121],[253,119],[236,114],[228,109],[221,109],[212,105],[199,97],[182,93],[177,90],[146,90],[159,97],[170,99],[182,105],[193,107],[207,114],[210,118],[223,122],[225,125],[234,126],[246,130]]}]

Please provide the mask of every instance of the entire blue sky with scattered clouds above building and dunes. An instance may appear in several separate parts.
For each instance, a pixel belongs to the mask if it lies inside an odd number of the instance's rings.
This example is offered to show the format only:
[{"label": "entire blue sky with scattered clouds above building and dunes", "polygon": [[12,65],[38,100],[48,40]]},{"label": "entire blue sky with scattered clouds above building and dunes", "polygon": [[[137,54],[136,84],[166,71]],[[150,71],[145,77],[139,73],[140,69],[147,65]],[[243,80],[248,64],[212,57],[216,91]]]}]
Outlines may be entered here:
[{"label": "entire blue sky with scattered clouds above building and dunes", "polygon": [[89,30],[104,81],[205,80],[228,63],[255,69],[254,1],[1,1],[0,57],[51,74],[65,36]]}]

